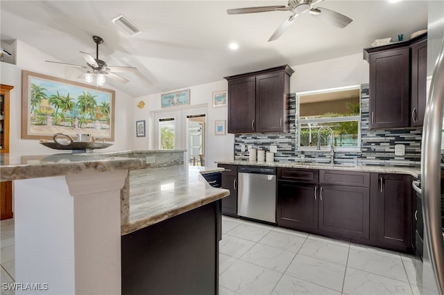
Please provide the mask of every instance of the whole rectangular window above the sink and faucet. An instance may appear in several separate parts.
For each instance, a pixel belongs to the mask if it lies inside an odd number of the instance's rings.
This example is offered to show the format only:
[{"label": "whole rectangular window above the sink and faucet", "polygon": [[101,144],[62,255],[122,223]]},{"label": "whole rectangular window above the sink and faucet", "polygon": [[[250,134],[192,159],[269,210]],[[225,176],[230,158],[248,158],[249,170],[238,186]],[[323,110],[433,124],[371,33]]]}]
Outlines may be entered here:
[{"label": "whole rectangular window above the sink and faucet", "polygon": [[[296,93],[296,105],[298,150],[316,151],[321,127],[332,129],[334,150],[360,150],[360,85]],[[321,151],[330,151],[330,131],[323,128],[320,137]]]}]

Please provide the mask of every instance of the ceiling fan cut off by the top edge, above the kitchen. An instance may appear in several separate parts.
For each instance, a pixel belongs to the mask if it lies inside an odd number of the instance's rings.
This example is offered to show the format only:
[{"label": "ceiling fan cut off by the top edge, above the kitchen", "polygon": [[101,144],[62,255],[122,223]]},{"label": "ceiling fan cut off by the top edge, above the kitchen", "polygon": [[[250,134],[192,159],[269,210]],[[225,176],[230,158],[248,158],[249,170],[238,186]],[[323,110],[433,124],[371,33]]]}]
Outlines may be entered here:
[{"label": "ceiling fan cut off by the top edge, above the kitchen", "polygon": [[268,11],[289,11],[293,13],[289,18],[287,18],[279,27],[275,30],[275,33],[271,35],[268,42],[278,39],[282,33],[293,23],[294,19],[302,13],[309,12],[311,15],[318,17],[319,19],[325,21],[328,24],[332,24],[338,28],[345,28],[350,24],[353,19],[342,15],[339,12],[322,8],[314,7],[317,3],[323,0],[289,0],[287,6],[262,6],[262,7],[250,7],[250,8],[234,8],[228,9],[227,13],[229,15],[240,15],[244,13],[255,13],[255,12],[268,12]]}]

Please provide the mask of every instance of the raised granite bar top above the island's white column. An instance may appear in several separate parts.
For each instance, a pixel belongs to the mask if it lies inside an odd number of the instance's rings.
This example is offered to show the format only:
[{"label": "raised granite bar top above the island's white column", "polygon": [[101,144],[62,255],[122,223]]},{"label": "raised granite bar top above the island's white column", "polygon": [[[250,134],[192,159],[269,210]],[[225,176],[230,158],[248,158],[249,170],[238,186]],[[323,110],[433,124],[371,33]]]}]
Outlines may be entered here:
[{"label": "raised granite bar top above the island's white column", "polygon": [[60,153],[42,156],[1,154],[0,181],[105,172],[142,167],[139,159],[94,154]]}]

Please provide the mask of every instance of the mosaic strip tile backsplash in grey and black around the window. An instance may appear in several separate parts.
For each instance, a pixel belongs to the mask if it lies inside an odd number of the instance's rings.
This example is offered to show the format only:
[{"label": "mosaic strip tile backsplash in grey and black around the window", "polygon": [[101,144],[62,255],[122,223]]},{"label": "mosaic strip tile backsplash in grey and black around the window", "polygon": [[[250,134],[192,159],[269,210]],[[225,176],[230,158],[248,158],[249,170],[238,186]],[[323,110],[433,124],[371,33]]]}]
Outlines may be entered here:
[{"label": "mosaic strip tile backsplash in grey and black around the window", "polygon": [[[334,163],[375,166],[410,166],[419,168],[421,157],[422,129],[369,129],[368,84],[361,85],[361,151],[335,152]],[[296,94],[289,99],[290,132],[276,134],[236,134],[234,136],[234,160],[248,161],[248,145],[261,150],[270,150],[270,145],[277,145],[275,161],[305,161],[329,163],[329,152],[301,152],[297,150],[296,134]],[[395,145],[405,145],[405,154],[395,156]],[[246,152],[241,152],[245,145]],[[301,160],[301,154],[305,159]]]}]

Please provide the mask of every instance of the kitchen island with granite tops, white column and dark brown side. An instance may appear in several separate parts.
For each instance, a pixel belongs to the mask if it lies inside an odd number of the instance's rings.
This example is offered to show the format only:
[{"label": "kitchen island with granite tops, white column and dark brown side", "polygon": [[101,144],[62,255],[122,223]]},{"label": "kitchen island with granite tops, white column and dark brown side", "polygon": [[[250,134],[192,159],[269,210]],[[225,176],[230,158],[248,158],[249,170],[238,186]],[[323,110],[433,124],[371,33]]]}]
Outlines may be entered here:
[{"label": "kitchen island with granite tops, white column and dark brown side", "polygon": [[[139,159],[94,153],[8,158],[9,163],[0,166],[0,179],[14,181],[16,283],[43,286],[42,294],[131,294],[130,289],[140,282],[128,282],[132,278],[125,241],[131,244],[134,239],[126,237],[139,234],[159,240],[164,229],[180,228],[177,222],[183,220],[194,220],[195,226],[207,226],[212,220],[214,235],[202,236],[196,243],[213,244],[207,253],[217,256],[218,200],[228,190],[212,188],[198,171],[188,171],[183,165],[138,169],[142,167]],[[139,185],[128,171],[143,178]],[[129,190],[121,190],[128,179]],[[141,245],[132,243],[130,253],[140,251]],[[182,240],[164,241],[162,248],[169,249],[164,253],[178,253]],[[143,261],[146,257],[139,259]],[[212,271],[206,271],[217,282],[217,260],[210,267]],[[130,289],[123,292],[128,284]],[[214,291],[216,285],[210,287]],[[16,294],[28,293],[16,290]]]}]

